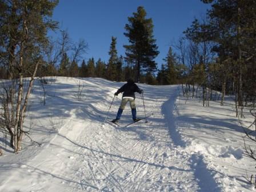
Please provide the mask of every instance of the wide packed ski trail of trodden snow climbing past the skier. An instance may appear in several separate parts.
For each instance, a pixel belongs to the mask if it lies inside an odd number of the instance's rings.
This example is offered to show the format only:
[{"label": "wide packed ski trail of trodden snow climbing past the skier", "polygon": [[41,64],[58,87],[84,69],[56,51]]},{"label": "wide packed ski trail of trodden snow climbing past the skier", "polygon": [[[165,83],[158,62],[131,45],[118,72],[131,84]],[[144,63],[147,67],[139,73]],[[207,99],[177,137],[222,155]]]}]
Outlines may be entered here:
[{"label": "wide packed ski trail of trodden snow climbing past the skier", "polygon": [[[111,96],[107,97],[105,104],[99,97],[93,103],[83,103],[71,110],[69,120],[49,145],[44,146],[43,150],[48,150],[49,156],[38,154],[27,162],[30,174],[37,175],[34,177],[37,181],[28,181],[30,191],[58,191],[59,185],[65,185],[65,191],[74,192],[221,191],[211,174],[205,178],[210,179],[211,186],[203,185],[204,178],[200,173],[208,173],[203,157],[186,150],[187,143],[177,130],[173,111],[178,86],[169,86],[168,89],[142,86],[142,89],[146,105],[154,109],[148,123],[138,122],[123,129],[109,123],[101,125],[95,117],[106,114],[98,113],[102,106],[111,102]],[[164,94],[158,97],[158,91]],[[113,95],[113,91],[107,95]],[[115,101],[115,105],[118,103]],[[137,108],[138,112],[143,111],[139,98]],[[130,113],[128,105],[125,110],[126,114]],[[115,112],[113,110],[111,115]],[[128,117],[126,114],[123,117]],[[91,117],[96,121],[89,121]],[[83,119],[87,119],[86,123]],[[52,162],[56,164],[52,165]],[[196,163],[197,166],[193,166]],[[42,164],[49,165],[49,170],[42,170]],[[16,173],[22,175],[26,171],[19,169]],[[37,186],[31,183],[37,183]]]}]

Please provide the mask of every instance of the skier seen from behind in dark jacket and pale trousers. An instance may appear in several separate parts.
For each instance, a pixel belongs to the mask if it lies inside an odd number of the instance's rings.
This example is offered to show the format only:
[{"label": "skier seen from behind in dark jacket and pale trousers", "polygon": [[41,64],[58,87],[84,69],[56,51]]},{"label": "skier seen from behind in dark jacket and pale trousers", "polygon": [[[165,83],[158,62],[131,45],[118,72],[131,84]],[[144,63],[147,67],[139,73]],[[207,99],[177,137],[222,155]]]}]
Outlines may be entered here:
[{"label": "skier seen from behind in dark jacket and pale trousers", "polygon": [[117,117],[112,120],[113,123],[118,122],[118,120],[121,118],[121,115],[123,113],[123,110],[125,109],[126,103],[130,102],[131,107],[131,114],[133,115],[133,121],[136,122],[139,119],[137,119],[136,114],[136,105],[135,105],[135,92],[142,94],[143,90],[139,89],[139,87],[134,83],[133,79],[128,79],[127,83],[123,85],[120,89],[115,92],[115,96],[117,96],[119,93],[123,93],[122,95],[122,101],[119,106],[119,109],[117,111]]}]

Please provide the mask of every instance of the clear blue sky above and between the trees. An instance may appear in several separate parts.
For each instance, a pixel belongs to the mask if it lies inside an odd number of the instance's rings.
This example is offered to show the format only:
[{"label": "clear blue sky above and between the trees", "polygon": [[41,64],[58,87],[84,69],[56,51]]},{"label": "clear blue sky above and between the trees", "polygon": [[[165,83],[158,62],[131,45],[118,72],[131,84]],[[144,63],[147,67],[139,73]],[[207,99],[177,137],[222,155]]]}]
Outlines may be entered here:
[{"label": "clear blue sky above and between the trees", "polygon": [[112,36],[117,37],[118,55],[125,56],[123,45],[128,42],[123,35],[125,25],[138,6],[143,6],[147,18],[153,19],[153,35],[160,52],[155,58],[158,66],[163,63],[170,44],[209,8],[200,0],[60,0],[53,19],[68,31],[73,41],[82,38],[88,43],[83,59],[94,57],[95,61],[101,58],[107,62]]}]

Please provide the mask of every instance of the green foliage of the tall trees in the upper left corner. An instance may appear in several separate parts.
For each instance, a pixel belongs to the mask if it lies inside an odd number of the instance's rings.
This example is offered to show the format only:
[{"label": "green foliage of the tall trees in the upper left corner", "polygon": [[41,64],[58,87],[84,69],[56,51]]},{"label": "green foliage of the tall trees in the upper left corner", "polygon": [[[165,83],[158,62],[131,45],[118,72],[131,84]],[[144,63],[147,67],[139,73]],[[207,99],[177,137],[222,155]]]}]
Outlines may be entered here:
[{"label": "green foliage of the tall trees in the upper left corner", "polygon": [[[58,1],[2,0],[0,2],[0,58],[9,79],[31,73],[31,67],[17,66],[17,55],[22,55],[27,65],[35,63],[47,45],[47,31],[56,29],[57,22],[51,20]],[[23,64],[23,63],[22,63]],[[26,63],[25,63],[26,65]]]}]

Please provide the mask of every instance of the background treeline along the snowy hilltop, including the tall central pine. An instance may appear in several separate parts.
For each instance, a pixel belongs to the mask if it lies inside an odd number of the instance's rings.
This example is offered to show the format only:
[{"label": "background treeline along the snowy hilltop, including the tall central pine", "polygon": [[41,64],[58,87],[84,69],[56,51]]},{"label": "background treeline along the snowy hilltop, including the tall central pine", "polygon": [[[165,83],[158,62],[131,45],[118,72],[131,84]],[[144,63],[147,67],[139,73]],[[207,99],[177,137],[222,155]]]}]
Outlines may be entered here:
[{"label": "background treeline along the snowy hilltop, including the tall central pine", "polygon": [[[17,3],[20,6],[19,8],[22,9],[22,6],[26,6],[26,3],[30,2],[32,1],[27,0],[23,3],[10,1],[6,2],[6,5],[3,2],[3,5],[6,9],[11,10]],[[9,19],[11,19],[11,13]],[[10,27],[15,27],[13,24],[13,22],[9,22]],[[42,61],[38,66],[36,76],[100,77],[111,81],[126,81],[127,78],[134,78],[136,82],[151,85],[177,83],[172,77],[174,69],[170,69],[170,67],[174,67],[173,61],[170,60],[170,57],[173,56],[172,53],[169,53],[166,57],[166,67],[162,67],[158,72],[154,58],[157,57],[159,51],[153,36],[153,21],[151,18],[146,18],[146,10],[142,6],[139,6],[137,12],[133,13],[133,17],[128,18],[125,29],[126,33],[124,35],[130,42],[129,45],[123,46],[126,50],[125,57],[118,56],[117,38],[112,37],[109,61],[107,62],[100,58],[97,61],[94,58],[82,59],[82,55],[86,53],[88,47],[87,43],[84,40],[74,43],[67,31],[61,30],[57,40],[53,41],[53,39],[48,38],[41,45]],[[2,57],[0,65],[1,78],[18,78],[19,71],[17,67],[12,67],[13,65],[10,65],[9,58],[7,58],[9,54],[12,55],[8,52],[8,44],[7,47],[6,44],[3,44],[2,48],[2,56],[4,57]],[[13,51],[15,51],[15,47]],[[29,47],[26,47],[26,51],[29,51]],[[30,49],[30,51],[33,53],[33,50]],[[30,77],[34,60],[29,57],[29,54],[23,58],[25,58],[22,69],[23,77]],[[10,70],[13,73],[10,73]],[[156,75],[157,73],[158,75]]]}]

